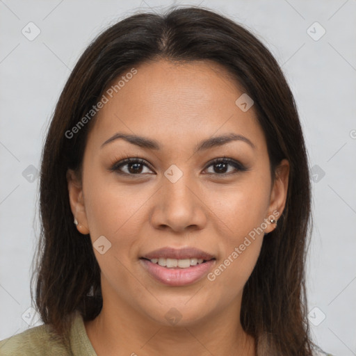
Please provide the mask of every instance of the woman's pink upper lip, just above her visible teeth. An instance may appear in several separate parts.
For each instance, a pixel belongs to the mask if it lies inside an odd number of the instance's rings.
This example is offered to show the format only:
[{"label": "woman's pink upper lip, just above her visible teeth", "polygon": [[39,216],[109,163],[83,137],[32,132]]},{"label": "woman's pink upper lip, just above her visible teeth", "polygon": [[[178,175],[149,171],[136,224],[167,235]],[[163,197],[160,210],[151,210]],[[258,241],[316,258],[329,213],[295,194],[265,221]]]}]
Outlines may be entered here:
[{"label": "woman's pink upper lip, just above her visible teeth", "polygon": [[160,248],[159,250],[154,250],[151,251],[147,254],[145,254],[143,257],[145,259],[205,259],[209,261],[210,259],[213,259],[212,254],[209,254],[208,252],[204,252],[202,250],[199,250],[197,248],[180,248],[180,249],[175,249],[175,248]]}]

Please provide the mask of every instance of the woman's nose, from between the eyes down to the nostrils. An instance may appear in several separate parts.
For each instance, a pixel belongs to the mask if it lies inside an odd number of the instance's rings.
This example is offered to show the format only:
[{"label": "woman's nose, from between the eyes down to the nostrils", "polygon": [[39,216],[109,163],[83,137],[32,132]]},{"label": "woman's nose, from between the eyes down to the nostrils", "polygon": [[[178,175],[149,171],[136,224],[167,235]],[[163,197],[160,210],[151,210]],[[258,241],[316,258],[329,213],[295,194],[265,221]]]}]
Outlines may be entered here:
[{"label": "woman's nose, from between the eyes down to the nostrils", "polygon": [[207,224],[207,206],[188,174],[175,183],[163,176],[150,218],[156,229],[199,230]]}]

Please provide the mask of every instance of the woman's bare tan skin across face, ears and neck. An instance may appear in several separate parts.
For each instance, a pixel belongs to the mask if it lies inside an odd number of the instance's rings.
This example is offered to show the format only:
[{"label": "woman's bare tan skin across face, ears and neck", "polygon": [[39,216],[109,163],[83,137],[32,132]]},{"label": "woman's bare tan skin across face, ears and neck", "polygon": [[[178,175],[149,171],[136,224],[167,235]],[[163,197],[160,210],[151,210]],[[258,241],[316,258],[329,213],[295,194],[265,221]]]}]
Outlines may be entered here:
[{"label": "woman's bare tan skin across face, ears and neck", "polygon": [[[102,270],[103,309],[85,323],[88,337],[99,356],[255,355],[254,339],[243,331],[239,316],[243,286],[264,234],[215,280],[204,277],[189,286],[157,282],[139,257],[167,246],[195,247],[216,257],[214,270],[274,211],[282,214],[289,163],[283,160],[271,181],[254,108],[243,112],[236,106],[243,90],[220,65],[159,60],[136,69],[99,111],[82,177],[67,172],[77,228],[89,233],[92,243],[102,235],[111,242],[104,254],[94,249]],[[161,149],[122,139],[101,148],[117,132],[157,140]],[[254,148],[234,140],[194,153],[201,140],[224,133],[243,135]],[[224,156],[248,170],[227,165],[223,175],[210,161]],[[147,166],[124,165],[127,175],[110,171],[127,157],[144,159]],[[172,164],[183,172],[175,183],[164,175]],[[264,233],[276,227],[266,225]],[[165,318],[172,307],[181,315],[175,325]]]}]

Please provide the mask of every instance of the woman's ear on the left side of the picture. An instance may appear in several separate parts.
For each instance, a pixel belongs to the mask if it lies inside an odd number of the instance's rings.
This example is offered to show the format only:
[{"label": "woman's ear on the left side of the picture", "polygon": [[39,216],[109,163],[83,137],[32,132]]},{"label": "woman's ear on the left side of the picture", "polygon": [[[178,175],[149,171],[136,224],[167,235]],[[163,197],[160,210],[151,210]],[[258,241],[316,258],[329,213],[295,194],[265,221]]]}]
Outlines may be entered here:
[{"label": "woman's ear on the left side of the picture", "polygon": [[78,231],[83,235],[89,234],[82,184],[80,179],[76,176],[74,170],[67,170],[67,183],[70,198],[70,209],[72,210],[73,217],[78,221],[76,229],[78,229]]}]

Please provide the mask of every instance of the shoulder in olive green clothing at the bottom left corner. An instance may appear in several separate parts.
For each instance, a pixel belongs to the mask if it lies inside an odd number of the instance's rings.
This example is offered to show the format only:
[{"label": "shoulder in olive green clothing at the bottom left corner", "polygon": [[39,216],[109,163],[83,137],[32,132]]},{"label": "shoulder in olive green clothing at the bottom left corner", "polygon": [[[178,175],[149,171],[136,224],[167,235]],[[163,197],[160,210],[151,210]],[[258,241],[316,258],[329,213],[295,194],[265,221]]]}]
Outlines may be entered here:
[{"label": "shoulder in olive green clothing at the bottom left corner", "polygon": [[[39,352],[40,351],[40,352]],[[70,355],[49,325],[31,327],[24,332],[0,341],[1,356]]]}]

